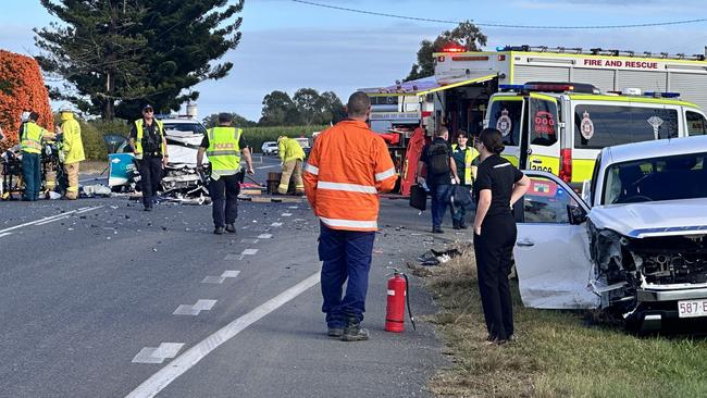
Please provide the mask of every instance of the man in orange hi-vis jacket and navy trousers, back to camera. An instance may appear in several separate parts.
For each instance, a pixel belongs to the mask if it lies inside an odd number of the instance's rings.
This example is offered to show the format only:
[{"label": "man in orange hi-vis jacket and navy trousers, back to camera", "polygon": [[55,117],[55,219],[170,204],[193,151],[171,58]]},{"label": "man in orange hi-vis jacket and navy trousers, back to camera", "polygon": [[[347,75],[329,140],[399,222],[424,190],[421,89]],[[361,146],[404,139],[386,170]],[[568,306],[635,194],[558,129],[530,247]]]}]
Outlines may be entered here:
[{"label": "man in orange hi-vis jacket and navy trousers, back to camera", "polygon": [[393,189],[398,175],[385,141],[365,124],[369,97],[354,92],[346,111],[348,119],[314,140],[305,166],[305,191],[321,222],[322,311],[328,335],[358,341],[369,338],[361,321],[379,227],[379,192]]}]

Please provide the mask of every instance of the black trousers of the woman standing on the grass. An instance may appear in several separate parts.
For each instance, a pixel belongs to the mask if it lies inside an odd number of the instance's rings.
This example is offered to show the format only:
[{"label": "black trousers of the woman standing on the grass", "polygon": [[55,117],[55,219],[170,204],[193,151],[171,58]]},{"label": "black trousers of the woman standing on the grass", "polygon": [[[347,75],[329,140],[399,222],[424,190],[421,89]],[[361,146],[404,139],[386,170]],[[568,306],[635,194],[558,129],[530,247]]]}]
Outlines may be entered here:
[{"label": "black trousers of the woman standing on the grass", "polygon": [[481,235],[474,234],[479,291],[492,339],[505,340],[513,334],[508,275],[516,236],[516,220],[510,213],[485,219]]}]

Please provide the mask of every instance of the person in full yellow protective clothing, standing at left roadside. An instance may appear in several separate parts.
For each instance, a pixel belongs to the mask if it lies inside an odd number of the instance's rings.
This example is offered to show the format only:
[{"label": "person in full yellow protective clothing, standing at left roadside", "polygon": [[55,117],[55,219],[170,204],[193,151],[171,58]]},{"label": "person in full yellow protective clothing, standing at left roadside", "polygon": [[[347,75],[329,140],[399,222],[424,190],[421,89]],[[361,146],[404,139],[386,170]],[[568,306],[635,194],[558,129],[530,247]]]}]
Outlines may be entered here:
[{"label": "person in full yellow protective clothing, standing at left roadside", "polygon": [[80,138],[80,125],[74,119],[74,111],[69,107],[63,107],[59,112],[63,134],[61,156],[69,179],[64,198],[75,200],[78,199],[78,165],[86,160],[84,142]]}]

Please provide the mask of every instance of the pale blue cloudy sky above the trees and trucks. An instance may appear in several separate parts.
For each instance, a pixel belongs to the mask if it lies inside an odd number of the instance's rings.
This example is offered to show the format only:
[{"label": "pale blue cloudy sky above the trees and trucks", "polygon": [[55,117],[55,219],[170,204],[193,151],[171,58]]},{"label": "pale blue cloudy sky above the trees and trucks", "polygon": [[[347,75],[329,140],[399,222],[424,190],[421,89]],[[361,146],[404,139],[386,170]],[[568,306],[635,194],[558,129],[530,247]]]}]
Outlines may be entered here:
[{"label": "pale blue cloudy sky above the trees and trucks", "polygon": [[[38,0],[0,0],[0,49],[37,55],[33,27],[53,20]],[[186,0],[185,0],[186,1]],[[705,17],[705,0],[311,0],[424,22],[345,12],[292,0],[246,0],[243,38],[222,61],[227,77],[194,90],[199,117],[237,112],[260,119],[263,97],[302,87],[334,91],[342,101],[357,88],[388,86],[410,72],[420,41],[458,22],[541,26],[601,26]],[[27,17],[29,16],[29,17]],[[705,53],[707,22],[619,29],[522,29],[481,26],[485,50],[504,45],[582,47],[636,52]],[[53,103],[58,108],[59,103]]]}]

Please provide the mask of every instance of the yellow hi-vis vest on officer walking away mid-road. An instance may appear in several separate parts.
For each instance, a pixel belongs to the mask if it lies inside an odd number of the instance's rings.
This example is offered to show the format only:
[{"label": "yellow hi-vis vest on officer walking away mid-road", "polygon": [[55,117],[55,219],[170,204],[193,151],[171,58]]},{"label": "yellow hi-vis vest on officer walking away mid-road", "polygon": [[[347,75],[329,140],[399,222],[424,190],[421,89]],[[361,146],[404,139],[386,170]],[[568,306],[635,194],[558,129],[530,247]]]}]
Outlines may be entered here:
[{"label": "yellow hi-vis vest on officer walking away mid-road", "polygon": [[209,129],[207,157],[211,171],[220,175],[236,174],[240,170],[240,134],[235,127],[213,127]]}]

